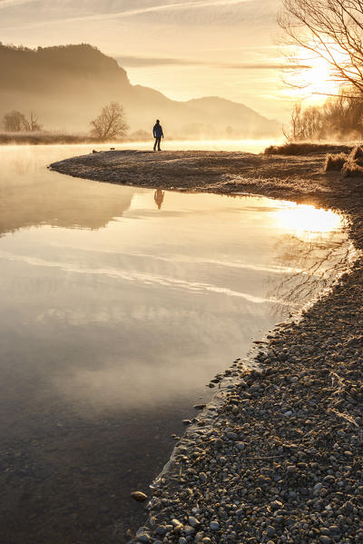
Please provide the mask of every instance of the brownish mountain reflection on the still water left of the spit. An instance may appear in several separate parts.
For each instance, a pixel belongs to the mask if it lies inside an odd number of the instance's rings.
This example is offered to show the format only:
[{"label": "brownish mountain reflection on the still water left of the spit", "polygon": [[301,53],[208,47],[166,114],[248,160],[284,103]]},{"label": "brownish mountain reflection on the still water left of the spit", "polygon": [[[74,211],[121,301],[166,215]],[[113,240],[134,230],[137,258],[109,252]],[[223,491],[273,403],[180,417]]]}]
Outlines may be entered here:
[{"label": "brownish mountain reflection on the still water left of the spit", "polygon": [[[75,152],[68,148],[63,153]],[[6,160],[9,154],[10,160]],[[130,208],[137,192],[134,188],[51,172],[45,167],[48,150],[44,155],[40,161],[41,153],[22,149],[1,157],[0,235],[44,224],[100,229]]]}]

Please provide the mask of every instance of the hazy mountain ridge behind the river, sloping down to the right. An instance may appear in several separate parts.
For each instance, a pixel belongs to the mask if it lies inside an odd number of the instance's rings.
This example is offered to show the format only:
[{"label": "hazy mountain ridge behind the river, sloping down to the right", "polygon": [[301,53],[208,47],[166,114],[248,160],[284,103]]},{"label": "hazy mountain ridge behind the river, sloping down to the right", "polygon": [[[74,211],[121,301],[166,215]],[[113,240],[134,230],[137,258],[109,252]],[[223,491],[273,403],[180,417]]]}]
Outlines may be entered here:
[{"label": "hazy mountain ridge behind the river, sloping down to the right", "polygon": [[211,96],[177,102],[132,85],[126,71],[92,45],[38,47],[0,44],[0,118],[33,111],[48,130],[88,132],[103,105],[120,102],[131,131],[151,132],[156,117],[173,137],[263,137],[280,124],[243,104]]}]

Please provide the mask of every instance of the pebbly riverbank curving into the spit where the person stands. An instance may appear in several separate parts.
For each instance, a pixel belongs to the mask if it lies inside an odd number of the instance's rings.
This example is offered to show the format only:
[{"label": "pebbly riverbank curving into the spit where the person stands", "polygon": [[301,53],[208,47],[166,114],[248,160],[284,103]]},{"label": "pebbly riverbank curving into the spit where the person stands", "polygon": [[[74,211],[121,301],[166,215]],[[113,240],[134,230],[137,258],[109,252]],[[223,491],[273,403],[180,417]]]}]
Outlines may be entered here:
[{"label": "pebbly riverbank curving into the spit where the person stands", "polygon": [[[259,193],[344,213],[363,249],[363,181],[308,156],[109,152],[54,163],[78,177],[213,193]],[[180,441],[135,541],[363,540],[363,261],[328,296],[270,335],[260,371],[236,361],[213,422]],[[207,410],[208,411],[208,410]]]}]

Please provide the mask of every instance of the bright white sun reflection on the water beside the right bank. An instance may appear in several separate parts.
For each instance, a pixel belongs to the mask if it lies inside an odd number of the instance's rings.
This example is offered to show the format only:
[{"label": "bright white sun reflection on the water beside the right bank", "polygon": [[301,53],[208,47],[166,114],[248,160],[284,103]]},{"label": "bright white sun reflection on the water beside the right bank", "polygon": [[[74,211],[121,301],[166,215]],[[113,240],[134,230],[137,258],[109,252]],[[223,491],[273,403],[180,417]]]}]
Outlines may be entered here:
[{"label": "bright white sun reflection on the water beside the right bank", "polygon": [[305,233],[321,234],[341,228],[341,218],[331,210],[320,210],[308,204],[296,204],[276,212],[276,223],[299,236]]}]

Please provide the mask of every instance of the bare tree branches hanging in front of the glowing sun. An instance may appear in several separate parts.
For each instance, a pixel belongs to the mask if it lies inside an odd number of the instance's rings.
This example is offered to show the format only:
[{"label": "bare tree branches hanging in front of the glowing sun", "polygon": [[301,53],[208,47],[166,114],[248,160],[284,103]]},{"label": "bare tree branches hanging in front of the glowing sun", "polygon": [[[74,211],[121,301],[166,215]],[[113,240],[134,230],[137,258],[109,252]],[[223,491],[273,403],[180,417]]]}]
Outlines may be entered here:
[{"label": "bare tree branches hanging in front of the glowing sun", "polygon": [[324,59],[332,77],[363,93],[363,0],[282,0],[289,45]]}]

